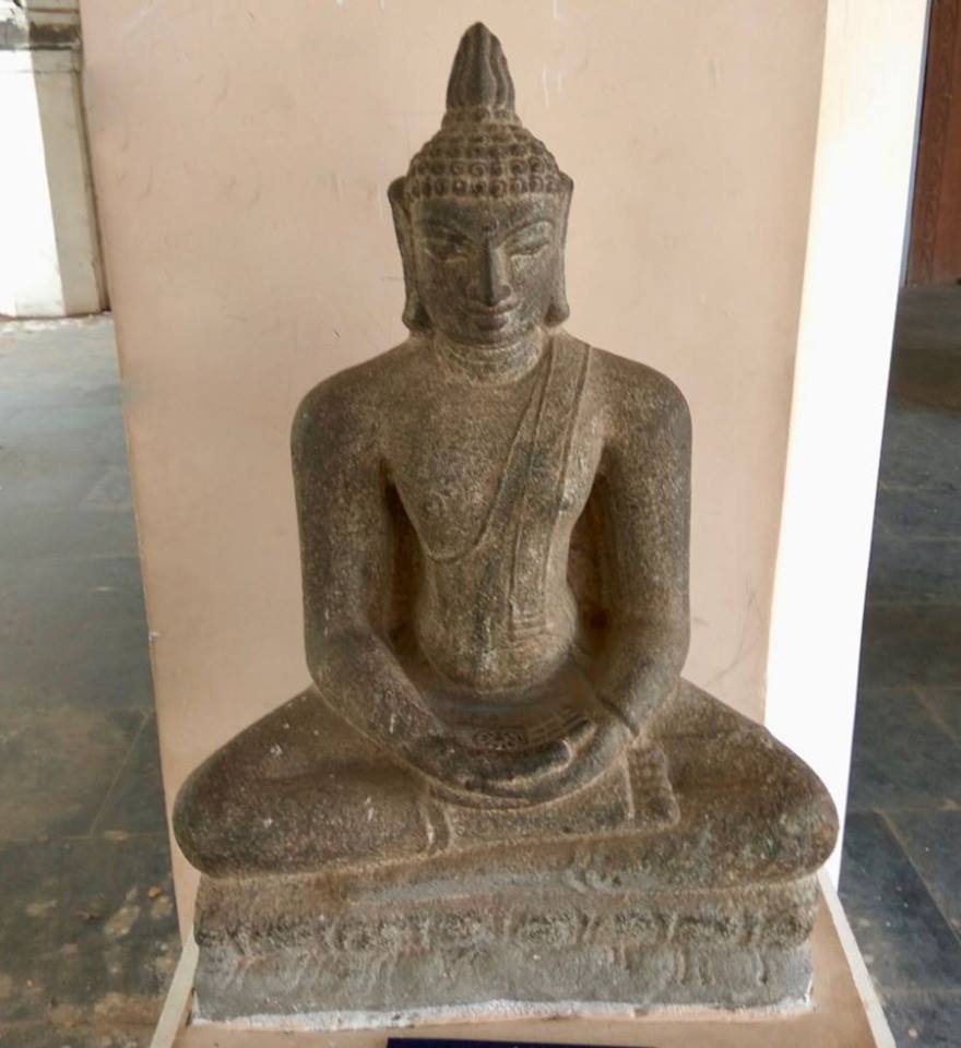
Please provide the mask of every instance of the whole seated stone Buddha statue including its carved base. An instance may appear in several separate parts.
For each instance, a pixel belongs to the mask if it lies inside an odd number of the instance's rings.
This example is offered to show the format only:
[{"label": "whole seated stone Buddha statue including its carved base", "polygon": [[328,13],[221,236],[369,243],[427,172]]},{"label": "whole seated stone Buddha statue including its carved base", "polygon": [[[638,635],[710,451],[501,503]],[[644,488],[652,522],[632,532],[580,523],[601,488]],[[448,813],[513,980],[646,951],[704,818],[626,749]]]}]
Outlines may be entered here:
[{"label": "whole seated stone Buddha statue including its carved base", "polygon": [[689,413],[562,326],[571,191],[473,26],[390,187],[410,337],[294,418],[312,683],[177,800],[203,1015],[808,992],[834,810],[680,677]]}]

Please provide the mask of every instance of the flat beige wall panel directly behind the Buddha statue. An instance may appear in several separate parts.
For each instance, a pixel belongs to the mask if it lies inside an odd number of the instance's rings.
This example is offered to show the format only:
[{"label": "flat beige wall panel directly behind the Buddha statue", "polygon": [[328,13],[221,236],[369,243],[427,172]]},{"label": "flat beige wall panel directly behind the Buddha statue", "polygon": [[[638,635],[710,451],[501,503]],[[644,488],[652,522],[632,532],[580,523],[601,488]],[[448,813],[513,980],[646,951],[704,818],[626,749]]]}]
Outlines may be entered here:
[{"label": "flat beige wall panel directly behind the Buddha statue", "polygon": [[[688,674],[763,713],[823,36],[814,0],[84,0],[169,797],[307,679],[288,426],[403,337],[389,181],[461,32],[573,177],[570,329],[695,419]],[[176,860],[186,917],[191,876]]]}]

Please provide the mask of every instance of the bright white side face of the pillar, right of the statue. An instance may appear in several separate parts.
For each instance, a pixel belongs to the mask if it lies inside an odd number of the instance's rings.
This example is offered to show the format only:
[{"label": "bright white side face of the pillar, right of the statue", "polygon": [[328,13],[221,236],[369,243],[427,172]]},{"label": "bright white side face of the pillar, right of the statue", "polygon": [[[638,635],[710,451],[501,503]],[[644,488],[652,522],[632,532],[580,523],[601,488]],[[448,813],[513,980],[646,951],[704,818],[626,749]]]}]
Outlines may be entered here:
[{"label": "bright white side face of the pillar, right of the statue", "polygon": [[842,819],[926,8],[828,4],[766,722]]}]

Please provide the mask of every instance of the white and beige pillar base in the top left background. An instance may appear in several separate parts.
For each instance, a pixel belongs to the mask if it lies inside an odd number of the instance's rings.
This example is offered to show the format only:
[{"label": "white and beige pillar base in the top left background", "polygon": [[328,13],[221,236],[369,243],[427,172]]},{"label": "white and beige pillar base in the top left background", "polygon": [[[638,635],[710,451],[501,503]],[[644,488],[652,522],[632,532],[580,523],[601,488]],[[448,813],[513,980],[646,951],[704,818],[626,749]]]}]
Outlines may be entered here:
[{"label": "white and beige pillar base in the top left background", "polygon": [[0,315],[106,308],[76,0],[0,0]]}]

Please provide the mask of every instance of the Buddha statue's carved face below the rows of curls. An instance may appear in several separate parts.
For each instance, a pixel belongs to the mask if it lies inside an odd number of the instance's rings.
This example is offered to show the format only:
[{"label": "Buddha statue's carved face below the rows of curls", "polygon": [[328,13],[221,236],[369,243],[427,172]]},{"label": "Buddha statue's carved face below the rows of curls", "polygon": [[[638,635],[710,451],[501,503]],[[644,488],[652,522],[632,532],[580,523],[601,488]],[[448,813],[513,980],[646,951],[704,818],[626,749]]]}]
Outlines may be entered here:
[{"label": "Buddha statue's carved face below the rows of curls", "polygon": [[417,291],[441,335],[502,346],[544,323],[560,279],[561,198],[422,200],[411,217]]}]

